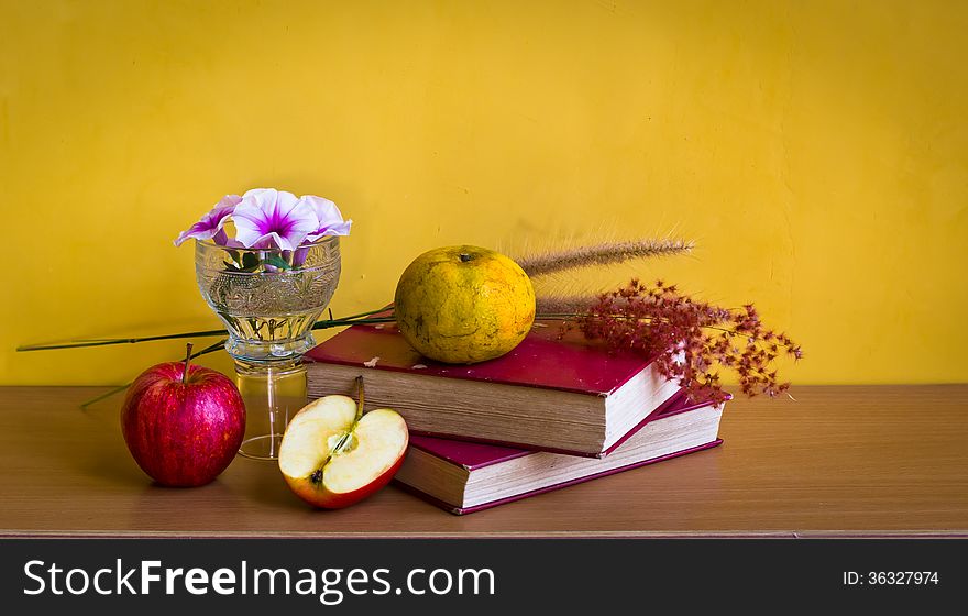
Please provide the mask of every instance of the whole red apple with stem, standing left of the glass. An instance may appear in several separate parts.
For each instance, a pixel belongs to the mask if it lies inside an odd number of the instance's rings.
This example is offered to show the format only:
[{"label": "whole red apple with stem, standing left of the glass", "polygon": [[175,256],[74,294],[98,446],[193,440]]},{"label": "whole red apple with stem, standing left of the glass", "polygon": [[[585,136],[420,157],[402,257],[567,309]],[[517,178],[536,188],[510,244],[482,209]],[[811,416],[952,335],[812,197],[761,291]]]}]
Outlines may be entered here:
[{"label": "whole red apple with stem, standing left of the glass", "polygon": [[[189,346],[189,358],[191,349]],[[223,374],[185,362],[144,371],[128,389],[121,431],[141,470],[162,485],[204,485],[224,471],[245,433],[245,405]]]}]

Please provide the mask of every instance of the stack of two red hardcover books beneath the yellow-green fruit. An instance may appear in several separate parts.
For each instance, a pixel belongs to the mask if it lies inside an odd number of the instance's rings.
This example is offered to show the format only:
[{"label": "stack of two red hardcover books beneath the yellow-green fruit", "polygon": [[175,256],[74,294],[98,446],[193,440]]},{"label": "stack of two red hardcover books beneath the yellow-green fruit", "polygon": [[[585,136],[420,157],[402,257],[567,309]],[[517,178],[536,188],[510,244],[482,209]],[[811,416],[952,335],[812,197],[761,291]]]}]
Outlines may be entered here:
[{"label": "stack of two red hardcover books beneath the yellow-green fruit", "polygon": [[396,327],[353,326],[307,355],[310,398],[352,396],[407,420],[395,482],[454,514],[716,447],[723,405],[690,400],[652,360],[554,324],[473,365],[431,362]]}]

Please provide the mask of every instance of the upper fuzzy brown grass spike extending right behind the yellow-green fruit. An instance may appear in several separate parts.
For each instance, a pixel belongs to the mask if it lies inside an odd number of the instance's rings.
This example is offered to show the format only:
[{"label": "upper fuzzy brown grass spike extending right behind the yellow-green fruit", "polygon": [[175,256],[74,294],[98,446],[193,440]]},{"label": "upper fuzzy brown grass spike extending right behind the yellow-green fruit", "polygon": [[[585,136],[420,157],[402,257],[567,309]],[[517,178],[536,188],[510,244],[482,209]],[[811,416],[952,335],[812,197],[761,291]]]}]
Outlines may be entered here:
[{"label": "upper fuzzy brown grass spike extending right behind the yellow-green fruit", "polygon": [[564,270],[610,265],[649,256],[681,254],[692,249],[693,243],[685,240],[644,239],[626,242],[606,242],[591,246],[525,255],[516,261],[529,276],[542,276]]}]

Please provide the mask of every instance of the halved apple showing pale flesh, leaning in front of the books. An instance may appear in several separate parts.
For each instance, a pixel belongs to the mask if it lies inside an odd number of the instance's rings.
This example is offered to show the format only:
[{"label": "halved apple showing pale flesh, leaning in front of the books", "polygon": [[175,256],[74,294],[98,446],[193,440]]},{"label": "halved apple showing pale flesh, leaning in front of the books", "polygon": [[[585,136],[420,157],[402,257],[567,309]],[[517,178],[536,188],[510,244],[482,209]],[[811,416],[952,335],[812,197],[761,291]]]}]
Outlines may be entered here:
[{"label": "halved apple showing pale flesh, leaning in front of the books", "polygon": [[296,414],[279,447],[286,483],[310,505],[339,509],[389,483],[407,452],[407,424],[380,408],[358,419],[356,403],[326,396]]}]

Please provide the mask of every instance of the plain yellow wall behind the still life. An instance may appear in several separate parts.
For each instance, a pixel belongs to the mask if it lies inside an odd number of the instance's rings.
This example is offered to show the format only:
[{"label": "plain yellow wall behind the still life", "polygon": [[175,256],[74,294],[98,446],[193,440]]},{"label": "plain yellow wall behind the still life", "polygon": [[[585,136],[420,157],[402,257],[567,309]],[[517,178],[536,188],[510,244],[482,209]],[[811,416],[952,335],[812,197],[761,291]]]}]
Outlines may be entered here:
[{"label": "plain yellow wall behind the still life", "polygon": [[0,383],[177,358],[13,348],[213,327],[172,239],[260,186],[355,220],[337,314],[437,245],[674,230],[694,256],[638,270],[755,301],[795,383],[966,381],[966,32],[924,0],[2,0]]}]

